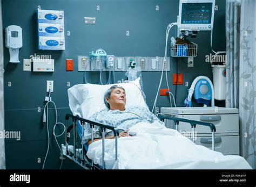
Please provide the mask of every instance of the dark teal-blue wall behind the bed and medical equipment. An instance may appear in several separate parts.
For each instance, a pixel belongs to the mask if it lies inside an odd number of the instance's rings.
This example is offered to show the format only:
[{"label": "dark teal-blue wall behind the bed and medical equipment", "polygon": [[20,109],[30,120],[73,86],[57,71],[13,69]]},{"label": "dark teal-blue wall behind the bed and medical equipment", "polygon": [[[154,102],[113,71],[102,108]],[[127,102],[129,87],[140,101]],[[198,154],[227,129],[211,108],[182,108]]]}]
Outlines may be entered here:
[{"label": "dark teal-blue wall behind the bed and medical equipment", "polygon": [[[36,9],[64,10],[65,51],[37,50],[37,18]],[[97,5],[100,10],[96,10]],[[156,6],[159,10],[156,11]],[[23,71],[23,63],[9,63],[9,51],[4,47],[4,105],[5,130],[21,131],[21,140],[6,139],[7,169],[41,169],[47,150],[46,126],[42,124],[44,97],[46,96],[46,80],[54,81],[52,100],[58,110],[58,121],[64,123],[65,113],[69,109],[67,89],[75,84],[83,83],[83,72],[77,71],[77,55],[87,55],[97,48],[103,48],[108,54],[115,56],[164,56],[165,32],[168,24],[176,22],[178,0],[2,0],[3,28],[8,25],[19,25],[23,29],[23,47],[19,50],[19,60],[29,59],[30,55],[51,55],[55,59],[55,72],[35,73]],[[213,48],[225,51],[225,1],[216,0],[218,11],[215,11]],[[95,25],[85,25],[84,17],[96,17]],[[174,26],[170,37],[176,37]],[[126,36],[130,31],[130,36]],[[4,31],[3,31],[4,32]],[[170,38],[169,38],[170,41]],[[205,55],[211,53],[210,32],[199,32],[196,39],[198,56],[194,58],[194,67],[178,59],[178,73],[183,73],[184,82],[192,83],[199,75],[208,76],[212,80],[212,68],[205,62]],[[170,46],[170,44],[169,44]],[[168,54],[170,56],[170,54]],[[65,59],[74,60],[74,71],[65,70]],[[172,74],[176,73],[176,59],[171,57],[171,71],[168,72],[169,85],[172,85]],[[106,82],[106,75],[103,81]],[[125,80],[125,72],[117,72],[116,81]],[[152,109],[160,81],[160,72],[143,72],[143,86],[146,101]],[[88,73],[90,83],[99,83],[98,73]],[[11,87],[9,87],[11,82]],[[70,82],[70,87],[67,87]],[[163,78],[161,88],[166,88]],[[177,105],[182,106],[187,95],[185,84],[177,86]],[[170,106],[169,98],[158,97],[158,107]],[[41,111],[38,111],[38,107]],[[52,108],[52,106],[51,106]],[[50,132],[55,121],[54,110],[50,109]],[[56,133],[59,134],[59,127]],[[59,143],[64,143],[64,137]],[[60,166],[59,149],[50,134],[50,150],[46,160],[46,169],[58,169]],[[38,162],[38,158],[41,162]],[[76,168],[75,164],[64,161],[64,169]]]}]

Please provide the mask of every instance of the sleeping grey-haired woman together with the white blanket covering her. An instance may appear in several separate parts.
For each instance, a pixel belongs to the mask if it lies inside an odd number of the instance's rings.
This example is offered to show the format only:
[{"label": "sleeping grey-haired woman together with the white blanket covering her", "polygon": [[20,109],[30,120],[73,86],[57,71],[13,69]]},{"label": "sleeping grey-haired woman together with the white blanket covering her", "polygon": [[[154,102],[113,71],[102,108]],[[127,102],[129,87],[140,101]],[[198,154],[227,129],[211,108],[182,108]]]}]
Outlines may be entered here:
[{"label": "sleeping grey-haired woman together with the white blanket covering her", "polygon": [[[146,107],[126,107],[125,90],[118,85],[105,92],[104,100],[108,109],[96,112],[89,120],[119,130],[117,160],[113,133],[105,132],[106,169],[252,169],[241,156],[196,145],[166,128]],[[102,166],[102,141],[98,141],[102,134],[97,127],[93,132],[95,139],[91,142],[91,128],[86,125],[82,143],[90,145],[86,154],[89,159]]]}]

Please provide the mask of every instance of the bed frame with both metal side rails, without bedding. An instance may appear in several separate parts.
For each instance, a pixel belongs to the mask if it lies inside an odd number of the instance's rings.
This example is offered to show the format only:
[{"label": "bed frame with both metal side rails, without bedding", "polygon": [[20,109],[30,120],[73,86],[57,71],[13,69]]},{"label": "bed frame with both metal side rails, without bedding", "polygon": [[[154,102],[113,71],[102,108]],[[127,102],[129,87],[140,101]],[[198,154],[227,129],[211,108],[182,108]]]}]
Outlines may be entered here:
[{"label": "bed frame with both metal side rails, without bedding", "polygon": [[[72,119],[72,124],[67,127],[68,125],[68,121],[69,119]],[[179,122],[184,122],[184,123],[188,123],[191,125],[192,128],[192,132],[193,132],[193,142],[195,140],[194,137],[194,128],[196,128],[196,125],[203,125],[203,126],[208,126],[211,129],[212,132],[212,150],[215,150],[214,147],[214,132],[216,131],[215,126],[212,123],[205,123],[202,121],[194,121],[194,120],[188,120],[188,119],[182,119],[182,118],[176,118],[176,117],[171,117],[171,116],[166,116],[163,114],[160,114],[158,116],[158,118],[161,121],[164,121],[165,119],[169,119],[169,120],[173,120],[174,124],[176,125],[176,130],[177,130],[177,125],[179,125]],[[87,119],[83,119],[83,118],[79,118],[76,116],[73,116],[71,114],[66,114],[65,116],[65,145],[62,144],[62,150],[60,153],[60,158],[64,159],[70,159],[73,162],[76,162],[79,166],[83,167],[84,169],[105,169],[105,163],[104,163],[104,153],[105,153],[105,132],[106,129],[107,130],[111,130],[113,131],[114,134],[114,138],[115,138],[115,146],[116,146],[116,160],[117,160],[117,154],[118,154],[118,149],[117,149],[117,145],[118,145],[118,129],[116,127],[113,126],[109,126],[109,125],[104,125],[101,123],[96,123],[95,121],[90,121]],[[82,125],[82,127],[84,127],[84,125],[90,125],[90,128],[94,128],[95,126],[98,126],[100,128],[100,131],[102,132],[102,163],[103,166],[99,166],[98,164],[93,163],[92,160],[90,160],[87,156],[86,156],[86,149],[87,149],[87,143],[85,144],[80,144],[78,143],[78,135],[77,133],[79,133],[77,131],[77,124]],[[73,145],[69,145],[69,138],[70,138],[70,131],[73,129]],[[83,132],[79,134],[80,136],[80,140],[82,140],[83,137]],[[91,141],[93,142],[93,131],[91,134]],[[79,148],[79,145],[80,148]]]}]

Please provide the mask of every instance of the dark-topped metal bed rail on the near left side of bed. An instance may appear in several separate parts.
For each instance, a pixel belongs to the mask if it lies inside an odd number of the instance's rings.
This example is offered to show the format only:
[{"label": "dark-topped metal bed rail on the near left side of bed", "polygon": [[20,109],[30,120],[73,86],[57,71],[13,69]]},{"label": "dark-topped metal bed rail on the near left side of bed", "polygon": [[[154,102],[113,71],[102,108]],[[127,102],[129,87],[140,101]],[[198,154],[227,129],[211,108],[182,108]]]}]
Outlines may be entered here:
[{"label": "dark-topped metal bed rail on the near left side of bed", "polygon": [[[73,121],[73,125],[69,128],[67,128],[68,125],[68,120],[72,119]],[[105,162],[104,162],[104,154],[105,154],[105,131],[106,129],[113,131],[114,134],[114,138],[115,138],[115,147],[116,147],[116,160],[117,160],[117,143],[118,143],[118,135],[119,135],[119,131],[118,128],[113,127],[113,126],[109,126],[109,125],[104,125],[101,123],[97,123],[95,121],[90,121],[84,118],[80,118],[77,116],[73,116],[72,114],[66,114],[65,116],[65,156],[68,157],[69,159],[75,161],[78,163],[78,157],[76,154],[76,150],[78,148],[77,145],[77,120],[80,121],[80,124],[82,125],[82,137],[84,135],[84,125],[90,125],[90,128],[92,130],[92,134],[91,134],[91,142],[93,142],[93,128],[95,126],[100,127],[100,131],[102,132],[102,163],[103,163],[103,169],[105,169]],[[87,124],[86,124],[87,123]],[[69,135],[68,133],[71,131],[71,129],[73,128],[73,157],[70,157],[70,153],[69,153]],[[80,166],[84,167],[85,166],[85,160],[84,160],[85,154],[84,154],[84,144],[82,144],[82,164],[79,164]],[[86,168],[86,167],[84,167]],[[93,161],[91,161],[91,168],[98,168],[96,166],[94,166]],[[99,168],[98,168],[99,169]]]}]

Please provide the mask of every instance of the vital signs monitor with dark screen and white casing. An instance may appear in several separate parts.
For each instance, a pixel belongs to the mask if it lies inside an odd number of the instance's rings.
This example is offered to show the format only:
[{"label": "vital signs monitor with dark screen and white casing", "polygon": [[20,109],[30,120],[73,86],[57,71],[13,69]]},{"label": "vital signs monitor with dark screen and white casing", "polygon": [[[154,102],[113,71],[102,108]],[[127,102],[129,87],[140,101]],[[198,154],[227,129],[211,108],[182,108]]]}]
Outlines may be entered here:
[{"label": "vital signs monitor with dark screen and white casing", "polygon": [[180,31],[211,31],[215,0],[180,0],[178,28]]}]

